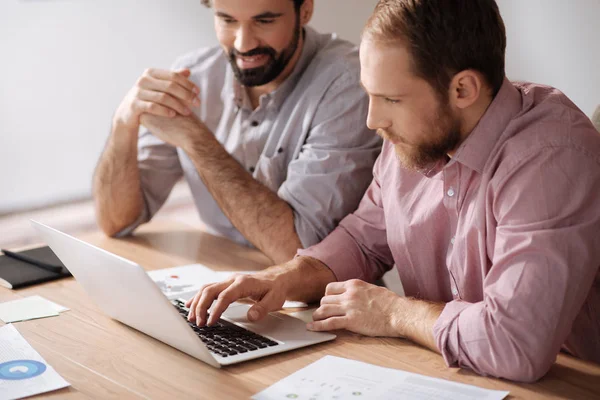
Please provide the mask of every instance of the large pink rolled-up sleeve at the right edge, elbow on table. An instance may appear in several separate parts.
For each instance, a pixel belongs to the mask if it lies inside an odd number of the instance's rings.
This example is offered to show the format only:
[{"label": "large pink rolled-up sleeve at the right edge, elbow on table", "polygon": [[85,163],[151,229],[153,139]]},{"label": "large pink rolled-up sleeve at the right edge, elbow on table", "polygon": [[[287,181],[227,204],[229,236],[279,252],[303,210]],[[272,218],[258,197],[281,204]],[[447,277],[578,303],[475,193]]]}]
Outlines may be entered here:
[{"label": "large pink rolled-up sleeve at the right edge, elbow on table", "polygon": [[483,301],[448,303],[433,333],[448,365],[530,382],[554,363],[598,271],[600,166],[582,149],[547,147],[497,175]]}]

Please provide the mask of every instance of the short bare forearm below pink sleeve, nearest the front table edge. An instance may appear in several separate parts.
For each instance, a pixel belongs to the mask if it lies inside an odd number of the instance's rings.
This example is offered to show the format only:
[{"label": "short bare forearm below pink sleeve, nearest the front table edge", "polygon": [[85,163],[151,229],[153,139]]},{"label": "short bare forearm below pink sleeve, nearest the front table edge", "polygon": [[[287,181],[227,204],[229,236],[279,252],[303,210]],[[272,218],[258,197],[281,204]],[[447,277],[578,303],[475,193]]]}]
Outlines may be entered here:
[{"label": "short bare forearm below pink sleeve, nearest the front table edge", "polygon": [[433,336],[433,326],[443,309],[443,303],[400,297],[395,320],[398,336],[440,353]]}]

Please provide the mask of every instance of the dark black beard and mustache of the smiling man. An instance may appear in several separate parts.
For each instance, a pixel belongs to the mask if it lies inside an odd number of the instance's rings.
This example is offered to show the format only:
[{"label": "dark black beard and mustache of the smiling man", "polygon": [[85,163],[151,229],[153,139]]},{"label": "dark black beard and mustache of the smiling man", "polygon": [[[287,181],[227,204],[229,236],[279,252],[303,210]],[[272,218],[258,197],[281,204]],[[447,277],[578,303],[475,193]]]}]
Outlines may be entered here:
[{"label": "dark black beard and mustache of the smiling man", "polygon": [[[287,67],[290,60],[298,49],[300,42],[300,17],[296,18],[294,27],[294,37],[290,45],[283,49],[277,56],[277,52],[272,47],[257,47],[246,53],[240,53],[235,48],[229,51],[229,63],[233,68],[233,73],[237,80],[246,87],[262,86],[276,79]],[[265,65],[257,68],[240,69],[236,63],[238,56],[253,57],[266,55],[268,57]]]}]

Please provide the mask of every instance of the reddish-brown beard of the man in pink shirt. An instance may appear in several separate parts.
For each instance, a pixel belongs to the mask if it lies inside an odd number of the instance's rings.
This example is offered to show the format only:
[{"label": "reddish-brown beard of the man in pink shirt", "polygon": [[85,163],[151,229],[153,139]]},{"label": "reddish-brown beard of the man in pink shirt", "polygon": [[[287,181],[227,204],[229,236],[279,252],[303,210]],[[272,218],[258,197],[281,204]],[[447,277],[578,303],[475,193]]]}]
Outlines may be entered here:
[{"label": "reddish-brown beard of the man in pink shirt", "polygon": [[[396,155],[403,167],[414,171],[425,171],[437,162],[447,158],[461,140],[460,124],[452,116],[448,106],[440,106],[428,133],[435,133],[434,139],[413,146],[395,145]],[[384,129],[378,130],[383,138],[394,138]],[[408,149],[407,149],[408,148]]]}]

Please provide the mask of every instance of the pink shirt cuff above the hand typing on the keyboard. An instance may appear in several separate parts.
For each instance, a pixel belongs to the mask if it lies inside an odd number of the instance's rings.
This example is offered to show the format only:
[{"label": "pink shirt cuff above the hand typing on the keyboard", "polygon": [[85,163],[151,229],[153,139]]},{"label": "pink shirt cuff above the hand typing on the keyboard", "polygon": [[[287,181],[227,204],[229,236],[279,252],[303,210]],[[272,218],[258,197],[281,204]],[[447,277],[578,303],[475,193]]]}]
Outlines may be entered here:
[{"label": "pink shirt cuff above the hand typing on the keyboard", "polygon": [[349,279],[365,279],[360,265],[365,262],[364,256],[343,227],[337,227],[319,244],[308,249],[298,250],[297,256],[316,258],[327,265],[338,282]]}]

